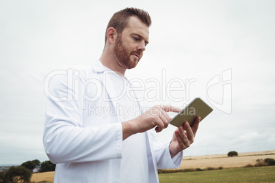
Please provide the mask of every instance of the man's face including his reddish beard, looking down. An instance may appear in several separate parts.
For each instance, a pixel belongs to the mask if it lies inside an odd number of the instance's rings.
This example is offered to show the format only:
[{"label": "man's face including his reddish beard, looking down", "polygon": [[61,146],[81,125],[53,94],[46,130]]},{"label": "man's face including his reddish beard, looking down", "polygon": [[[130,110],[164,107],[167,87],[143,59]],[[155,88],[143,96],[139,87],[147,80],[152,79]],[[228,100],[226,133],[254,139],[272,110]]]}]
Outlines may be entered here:
[{"label": "man's face including his reddish beard, looking down", "polygon": [[148,27],[139,18],[131,16],[128,26],[118,34],[114,44],[114,53],[122,68],[137,66],[148,44],[148,36]]}]

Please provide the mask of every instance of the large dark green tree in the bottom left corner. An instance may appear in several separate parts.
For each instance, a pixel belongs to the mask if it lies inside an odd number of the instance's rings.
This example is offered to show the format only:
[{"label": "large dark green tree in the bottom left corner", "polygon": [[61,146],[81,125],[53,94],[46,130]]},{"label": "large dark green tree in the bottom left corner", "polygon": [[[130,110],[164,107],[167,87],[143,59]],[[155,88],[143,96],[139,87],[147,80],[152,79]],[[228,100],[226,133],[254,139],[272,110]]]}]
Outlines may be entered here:
[{"label": "large dark green tree in the bottom left corner", "polygon": [[0,181],[3,183],[8,182],[30,182],[31,180],[31,171],[25,167],[10,167],[5,174],[1,174]]}]

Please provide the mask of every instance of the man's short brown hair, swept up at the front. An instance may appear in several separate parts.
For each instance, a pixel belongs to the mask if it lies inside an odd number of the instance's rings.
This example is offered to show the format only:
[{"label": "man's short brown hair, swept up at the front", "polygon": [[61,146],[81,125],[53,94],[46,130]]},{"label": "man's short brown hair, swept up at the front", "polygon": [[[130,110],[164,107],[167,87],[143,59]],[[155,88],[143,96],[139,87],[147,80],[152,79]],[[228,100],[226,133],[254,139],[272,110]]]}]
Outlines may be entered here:
[{"label": "man's short brown hair, swept up at the front", "polygon": [[140,20],[142,20],[142,23],[146,24],[148,27],[150,27],[152,23],[150,15],[144,10],[140,10],[138,8],[125,8],[120,10],[119,12],[116,12],[109,20],[105,32],[105,44],[107,41],[107,29],[109,29],[109,27],[113,27],[118,33],[122,33],[125,27],[127,27],[128,20],[131,16],[137,16]]}]

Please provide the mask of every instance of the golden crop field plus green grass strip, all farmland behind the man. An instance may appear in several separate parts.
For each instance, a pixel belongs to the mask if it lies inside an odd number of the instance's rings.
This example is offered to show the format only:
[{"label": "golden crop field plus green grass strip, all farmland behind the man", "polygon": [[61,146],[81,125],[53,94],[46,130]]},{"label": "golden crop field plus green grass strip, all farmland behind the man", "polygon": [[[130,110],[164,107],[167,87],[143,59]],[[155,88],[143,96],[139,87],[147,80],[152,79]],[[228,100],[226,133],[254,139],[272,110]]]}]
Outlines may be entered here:
[{"label": "golden crop field plus green grass strip, all farmland behind the man", "polygon": [[[275,166],[238,168],[248,164],[255,165],[257,159],[273,158],[274,151],[239,153],[237,157],[227,154],[209,156],[186,156],[179,169],[205,169],[207,167],[223,167],[222,170],[196,171],[188,173],[161,173],[159,180],[164,182],[275,182]],[[238,168],[238,169],[233,169]],[[31,182],[53,182],[54,172],[34,173]],[[241,181],[240,181],[241,180]],[[248,181],[249,180],[249,181]]]}]

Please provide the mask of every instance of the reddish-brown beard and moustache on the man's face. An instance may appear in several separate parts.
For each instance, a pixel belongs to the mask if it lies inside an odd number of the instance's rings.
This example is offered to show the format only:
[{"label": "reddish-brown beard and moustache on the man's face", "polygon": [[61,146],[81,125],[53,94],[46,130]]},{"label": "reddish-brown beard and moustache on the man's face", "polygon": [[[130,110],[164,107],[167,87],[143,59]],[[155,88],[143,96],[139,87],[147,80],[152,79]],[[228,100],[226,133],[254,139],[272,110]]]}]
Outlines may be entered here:
[{"label": "reddish-brown beard and moustache on the man's face", "polygon": [[[123,66],[124,68],[127,68],[127,69],[135,68],[135,66],[137,66],[137,63],[140,61],[140,59],[142,57],[142,53],[139,51],[132,51],[131,53],[129,53],[129,54],[128,53],[129,52],[127,51],[127,48],[122,43],[122,38],[121,38],[121,34],[120,34],[118,36],[118,38],[116,39],[116,43],[114,46],[114,54],[116,55],[116,58],[118,59],[118,62],[121,66]],[[139,56],[137,61],[131,60],[130,57],[132,54]]]}]

